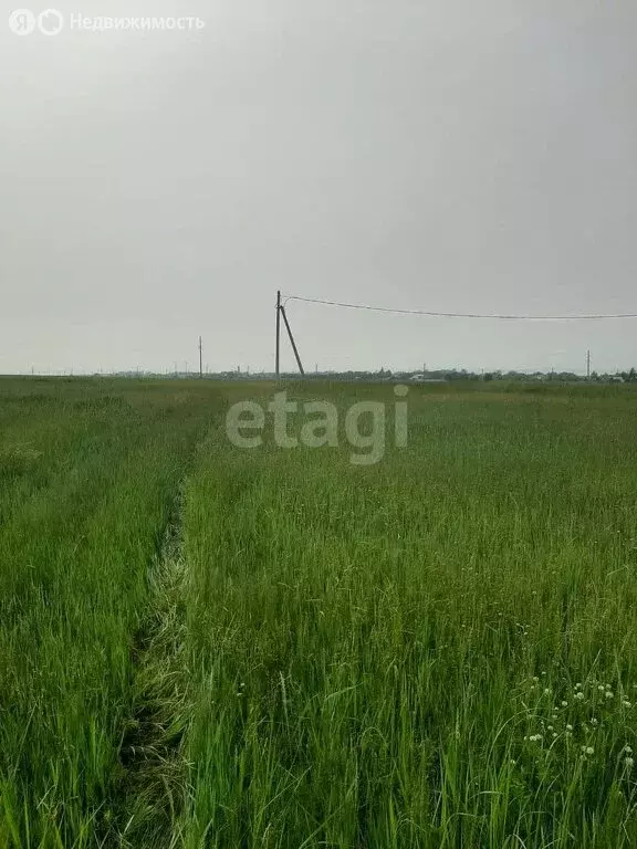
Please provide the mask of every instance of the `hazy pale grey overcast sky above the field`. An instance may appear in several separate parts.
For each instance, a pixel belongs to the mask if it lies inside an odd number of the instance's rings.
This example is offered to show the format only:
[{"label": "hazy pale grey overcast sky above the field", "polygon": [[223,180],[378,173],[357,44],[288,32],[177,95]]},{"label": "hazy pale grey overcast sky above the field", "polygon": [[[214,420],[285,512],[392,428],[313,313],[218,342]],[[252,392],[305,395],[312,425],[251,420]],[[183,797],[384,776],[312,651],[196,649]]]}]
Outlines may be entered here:
[{"label": "hazy pale grey overcast sky above the field", "polygon": [[[0,373],[272,370],[276,290],[637,313],[637,4],[53,2],[0,9]],[[288,315],[307,369],[637,366],[637,319]]]}]

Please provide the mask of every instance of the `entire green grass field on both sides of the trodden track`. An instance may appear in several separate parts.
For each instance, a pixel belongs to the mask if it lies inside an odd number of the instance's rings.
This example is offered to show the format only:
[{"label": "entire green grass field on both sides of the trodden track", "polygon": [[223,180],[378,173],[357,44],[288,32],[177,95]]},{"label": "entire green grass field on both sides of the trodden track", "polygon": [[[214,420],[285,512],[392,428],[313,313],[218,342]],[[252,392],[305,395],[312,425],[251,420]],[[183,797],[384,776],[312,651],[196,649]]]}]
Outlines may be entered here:
[{"label": "entire green grass field on both sides of the trodden track", "polygon": [[0,380],[0,847],[637,846],[637,394],[275,391]]}]

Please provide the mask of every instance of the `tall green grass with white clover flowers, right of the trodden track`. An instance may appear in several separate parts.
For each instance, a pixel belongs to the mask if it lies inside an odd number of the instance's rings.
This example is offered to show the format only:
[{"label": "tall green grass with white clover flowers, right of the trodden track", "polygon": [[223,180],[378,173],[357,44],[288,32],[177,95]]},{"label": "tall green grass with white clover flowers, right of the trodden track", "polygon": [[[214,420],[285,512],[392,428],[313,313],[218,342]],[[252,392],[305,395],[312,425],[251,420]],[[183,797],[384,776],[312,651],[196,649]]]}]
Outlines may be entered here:
[{"label": "tall green grass with white clover flowers, right of the trodden track", "polygon": [[210,437],[180,845],[637,842],[635,397],[411,395],[376,467]]}]

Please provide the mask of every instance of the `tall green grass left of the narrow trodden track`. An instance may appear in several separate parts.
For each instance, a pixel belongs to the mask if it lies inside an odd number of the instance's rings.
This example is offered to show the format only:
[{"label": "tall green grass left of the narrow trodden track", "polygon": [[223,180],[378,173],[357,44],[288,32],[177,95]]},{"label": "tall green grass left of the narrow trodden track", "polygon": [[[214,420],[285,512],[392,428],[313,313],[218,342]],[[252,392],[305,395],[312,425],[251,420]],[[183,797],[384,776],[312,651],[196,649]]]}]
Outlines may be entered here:
[{"label": "tall green grass left of the narrow trodden track", "polygon": [[147,568],[210,392],[2,385],[0,846],[109,830]]}]

